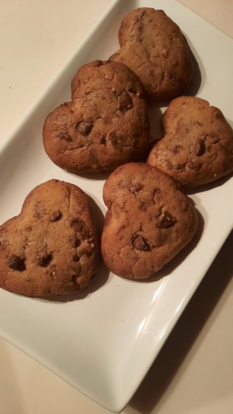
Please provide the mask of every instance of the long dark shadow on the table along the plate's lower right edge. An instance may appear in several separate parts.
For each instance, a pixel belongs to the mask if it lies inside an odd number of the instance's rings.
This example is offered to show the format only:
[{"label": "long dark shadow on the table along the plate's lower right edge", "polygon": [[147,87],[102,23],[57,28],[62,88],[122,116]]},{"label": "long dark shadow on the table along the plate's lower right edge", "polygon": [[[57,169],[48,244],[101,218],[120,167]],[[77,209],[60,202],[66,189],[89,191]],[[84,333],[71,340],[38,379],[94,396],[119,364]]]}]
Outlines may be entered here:
[{"label": "long dark shadow on the table along the plate's lower right edge", "polygon": [[129,406],[150,414],[172,383],[186,355],[232,279],[233,232],[204,276]]}]

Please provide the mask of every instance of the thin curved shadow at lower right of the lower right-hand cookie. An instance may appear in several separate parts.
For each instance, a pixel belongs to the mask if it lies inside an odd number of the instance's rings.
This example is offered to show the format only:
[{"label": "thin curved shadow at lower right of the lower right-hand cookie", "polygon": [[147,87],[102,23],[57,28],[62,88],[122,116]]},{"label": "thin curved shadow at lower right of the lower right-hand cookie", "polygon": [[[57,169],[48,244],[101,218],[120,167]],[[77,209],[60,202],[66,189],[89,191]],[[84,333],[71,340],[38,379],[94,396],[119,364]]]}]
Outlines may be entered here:
[{"label": "thin curved shadow at lower right of the lower right-hand cookie", "polygon": [[[192,200],[191,200],[192,201]],[[178,267],[185,258],[192,252],[192,250],[198,245],[204,230],[204,218],[200,211],[196,210],[198,214],[198,229],[192,240],[175,256],[171,262],[163,266],[163,268],[157,271],[154,275],[148,277],[148,279],[130,280],[134,283],[151,283],[162,279],[165,276],[171,274],[176,267]]]}]

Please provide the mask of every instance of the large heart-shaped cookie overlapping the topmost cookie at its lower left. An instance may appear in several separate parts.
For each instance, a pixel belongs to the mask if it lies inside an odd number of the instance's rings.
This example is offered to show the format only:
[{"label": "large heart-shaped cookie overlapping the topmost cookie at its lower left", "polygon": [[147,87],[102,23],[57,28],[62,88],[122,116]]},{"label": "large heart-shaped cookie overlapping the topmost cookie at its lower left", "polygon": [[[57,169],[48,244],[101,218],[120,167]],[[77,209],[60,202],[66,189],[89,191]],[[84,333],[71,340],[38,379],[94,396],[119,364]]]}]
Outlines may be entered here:
[{"label": "large heart-shaped cookie overlapping the topmost cookie at its lower left", "polygon": [[117,62],[95,60],[82,66],[71,84],[72,102],[46,118],[44,148],[67,171],[114,170],[138,160],[149,143],[143,88]]}]

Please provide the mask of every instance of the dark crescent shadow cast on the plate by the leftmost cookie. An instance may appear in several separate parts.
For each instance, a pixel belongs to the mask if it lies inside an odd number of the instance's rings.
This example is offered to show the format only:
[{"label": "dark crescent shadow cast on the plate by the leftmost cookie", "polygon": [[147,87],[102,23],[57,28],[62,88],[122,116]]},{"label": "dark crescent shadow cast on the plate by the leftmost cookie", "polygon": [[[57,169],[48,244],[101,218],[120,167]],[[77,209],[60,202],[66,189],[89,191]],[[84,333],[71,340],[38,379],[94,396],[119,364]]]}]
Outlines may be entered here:
[{"label": "dark crescent shadow cast on the plate by the leftmost cookie", "polygon": [[[100,235],[103,229],[104,225],[104,214],[101,211],[100,207],[97,205],[97,203],[93,200],[93,196],[91,194],[86,193],[91,198],[91,204],[94,210],[94,216],[96,220],[96,227],[97,227],[97,233],[98,233],[98,239],[100,240]],[[65,302],[72,302],[74,300],[84,299],[85,297],[91,295],[98,289],[100,289],[102,286],[106,284],[109,278],[110,270],[105,266],[103,263],[103,260],[101,258],[101,254],[99,252],[99,264],[97,268],[97,272],[95,274],[95,277],[93,281],[91,281],[90,285],[87,286],[87,288],[78,291],[76,293],[70,294],[70,295],[60,295],[60,296],[43,296],[38,297],[37,299],[42,301],[50,301],[54,303],[65,303]]]}]

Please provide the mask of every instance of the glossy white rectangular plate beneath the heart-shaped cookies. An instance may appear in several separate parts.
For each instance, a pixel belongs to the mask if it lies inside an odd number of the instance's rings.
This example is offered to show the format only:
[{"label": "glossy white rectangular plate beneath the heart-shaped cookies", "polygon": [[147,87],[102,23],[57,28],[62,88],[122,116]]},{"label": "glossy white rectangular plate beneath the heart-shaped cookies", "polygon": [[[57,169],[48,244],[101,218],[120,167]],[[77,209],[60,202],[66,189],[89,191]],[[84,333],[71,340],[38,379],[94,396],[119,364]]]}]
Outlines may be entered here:
[{"label": "glossy white rectangular plate beneath the heart-shaped cookies", "polygon": [[[198,96],[219,107],[226,118],[232,117],[233,41],[229,36],[175,0],[114,1],[0,148],[1,223],[18,214],[29,191],[50,178],[80,186],[106,211],[101,175],[99,180],[91,175],[76,177],[56,167],[44,152],[42,126],[51,110],[70,99],[70,81],[77,69],[88,61],[107,59],[117,50],[122,17],[140,6],[164,9],[179,25],[201,70]],[[0,290],[0,335],[92,400],[120,412],[232,229],[233,180],[223,181],[191,196],[203,216],[204,229],[159,272],[158,281],[137,283],[108,276],[101,265],[89,290],[68,301]]]}]

